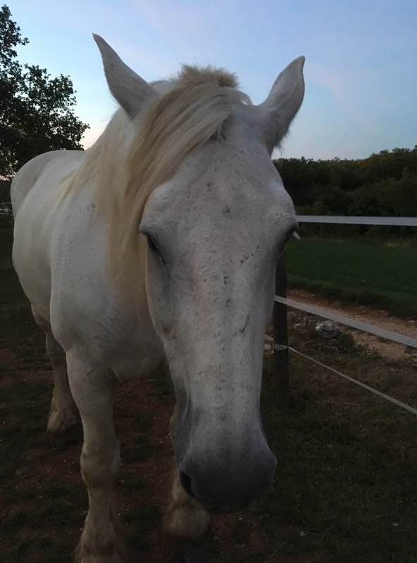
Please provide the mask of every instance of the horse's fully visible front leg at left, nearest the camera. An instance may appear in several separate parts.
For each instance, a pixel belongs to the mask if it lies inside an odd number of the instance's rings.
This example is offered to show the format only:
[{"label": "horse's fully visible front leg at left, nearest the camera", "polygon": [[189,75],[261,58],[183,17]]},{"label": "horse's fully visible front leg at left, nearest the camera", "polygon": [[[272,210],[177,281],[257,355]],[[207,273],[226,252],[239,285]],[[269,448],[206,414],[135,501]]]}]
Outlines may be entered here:
[{"label": "horse's fully visible front leg at left, nearest the camera", "polygon": [[117,517],[111,504],[113,481],[120,468],[120,443],[113,424],[113,379],[72,352],[67,361],[70,388],[84,431],[80,466],[89,498],[75,562],[121,563]]}]

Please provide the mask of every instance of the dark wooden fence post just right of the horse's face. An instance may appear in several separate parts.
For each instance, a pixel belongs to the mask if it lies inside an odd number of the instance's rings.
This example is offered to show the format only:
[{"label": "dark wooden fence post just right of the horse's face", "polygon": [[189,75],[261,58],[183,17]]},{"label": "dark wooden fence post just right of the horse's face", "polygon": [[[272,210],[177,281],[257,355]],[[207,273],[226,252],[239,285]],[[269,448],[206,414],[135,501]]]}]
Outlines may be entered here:
[{"label": "dark wooden fence post just right of the horse's face", "polygon": [[[275,295],[287,297],[287,257],[285,250],[278,258],[275,270]],[[274,338],[274,375],[278,405],[286,406],[290,400],[290,374],[288,358],[287,305],[274,302],[273,306]]]}]

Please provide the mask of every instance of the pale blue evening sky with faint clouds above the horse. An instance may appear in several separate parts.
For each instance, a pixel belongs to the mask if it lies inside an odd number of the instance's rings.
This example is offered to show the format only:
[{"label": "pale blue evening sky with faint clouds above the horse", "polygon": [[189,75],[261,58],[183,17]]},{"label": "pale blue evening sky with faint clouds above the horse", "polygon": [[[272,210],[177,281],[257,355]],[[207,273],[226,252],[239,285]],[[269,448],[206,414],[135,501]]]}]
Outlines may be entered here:
[{"label": "pale blue evening sky with faint clouds above the horse", "polygon": [[[3,4],[3,3],[2,3]],[[261,103],[306,57],[284,158],[366,158],[417,144],[417,0],[4,0],[29,44],[20,63],[68,75],[88,147],[116,110],[92,32],[144,80],[182,63],[235,72]],[[279,155],[275,155],[279,156]]]}]

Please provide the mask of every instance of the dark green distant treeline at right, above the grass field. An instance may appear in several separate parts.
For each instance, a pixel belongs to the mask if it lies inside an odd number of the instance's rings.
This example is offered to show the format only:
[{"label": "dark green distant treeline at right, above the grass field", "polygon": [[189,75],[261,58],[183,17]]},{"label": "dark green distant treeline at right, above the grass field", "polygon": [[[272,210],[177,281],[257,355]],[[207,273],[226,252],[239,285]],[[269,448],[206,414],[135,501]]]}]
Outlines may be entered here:
[{"label": "dark green distant treeline at right, above the grass field", "polygon": [[361,160],[282,158],[274,164],[299,215],[417,216],[417,145]]}]

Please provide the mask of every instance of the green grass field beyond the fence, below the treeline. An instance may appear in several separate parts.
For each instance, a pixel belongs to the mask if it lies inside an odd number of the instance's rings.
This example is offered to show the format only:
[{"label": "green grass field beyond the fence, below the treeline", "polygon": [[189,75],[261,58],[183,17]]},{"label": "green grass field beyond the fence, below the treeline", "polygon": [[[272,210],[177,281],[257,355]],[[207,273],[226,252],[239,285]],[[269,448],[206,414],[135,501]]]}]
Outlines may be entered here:
[{"label": "green grass field beyond the fence, below the treeline", "polygon": [[289,287],[417,317],[417,242],[303,239],[287,247]]}]

